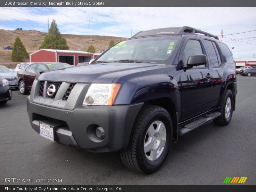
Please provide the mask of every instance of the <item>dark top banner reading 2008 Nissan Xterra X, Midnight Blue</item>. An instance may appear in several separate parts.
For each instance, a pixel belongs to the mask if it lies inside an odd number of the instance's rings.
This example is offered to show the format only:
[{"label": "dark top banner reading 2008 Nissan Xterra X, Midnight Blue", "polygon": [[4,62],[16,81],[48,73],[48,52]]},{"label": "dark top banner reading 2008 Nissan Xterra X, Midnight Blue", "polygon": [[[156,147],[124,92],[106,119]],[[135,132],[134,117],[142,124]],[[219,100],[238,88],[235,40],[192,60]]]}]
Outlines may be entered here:
[{"label": "dark top banner reading 2008 Nissan Xterra X, Midnight Blue", "polygon": [[[255,7],[255,0],[1,0],[0,7]],[[225,13],[223,13],[225,14]]]}]

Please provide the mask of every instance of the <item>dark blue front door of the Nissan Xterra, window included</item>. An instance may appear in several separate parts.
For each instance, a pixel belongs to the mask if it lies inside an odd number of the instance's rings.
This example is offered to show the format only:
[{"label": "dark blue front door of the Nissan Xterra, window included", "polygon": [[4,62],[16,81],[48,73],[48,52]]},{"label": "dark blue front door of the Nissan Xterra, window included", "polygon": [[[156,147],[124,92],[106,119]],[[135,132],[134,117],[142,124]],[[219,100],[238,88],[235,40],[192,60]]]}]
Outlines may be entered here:
[{"label": "dark blue front door of the Nissan Xterra, window included", "polygon": [[[183,66],[186,66],[190,55],[205,54],[199,38],[187,39],[183,46],[181,53]],[[180,70],[182,109],[180,121],[200,115],[212,108],[212,80],[211,77],[207,78],[210,75],[212,75],[212,69],[208,63]]]}]

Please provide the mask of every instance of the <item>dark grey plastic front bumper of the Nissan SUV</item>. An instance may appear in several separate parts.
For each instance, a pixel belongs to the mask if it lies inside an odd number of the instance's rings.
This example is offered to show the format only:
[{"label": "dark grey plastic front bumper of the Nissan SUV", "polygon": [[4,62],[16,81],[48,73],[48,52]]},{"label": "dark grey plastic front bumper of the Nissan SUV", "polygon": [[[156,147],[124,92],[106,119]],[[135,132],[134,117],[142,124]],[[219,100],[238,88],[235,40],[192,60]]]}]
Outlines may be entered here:
[{"label": "dark grey plastic front bumper of the Nissan SUV", "polygon": [[[54,140],[94,152],[125,149],[132,126],[143,103],[116,106],[79,106],[65,110],[36,104],[27,99],[28,116],[32,128],[40,133],[39,122],[53,127]],[[96,127],[105,131],[100,140]]]}]

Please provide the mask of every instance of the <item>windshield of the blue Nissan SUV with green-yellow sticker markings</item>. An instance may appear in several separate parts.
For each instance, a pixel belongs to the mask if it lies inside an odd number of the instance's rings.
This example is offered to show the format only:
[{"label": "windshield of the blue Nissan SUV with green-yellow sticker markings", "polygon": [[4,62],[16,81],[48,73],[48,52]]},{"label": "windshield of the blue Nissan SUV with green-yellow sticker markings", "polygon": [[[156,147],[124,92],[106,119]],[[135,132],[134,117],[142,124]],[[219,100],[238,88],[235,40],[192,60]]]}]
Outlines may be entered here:
[{"label": "windshield of the blue Nissan SUV with green-yellow sticker markings", "polygon": [[169,65],[179,40],[180,36],[157,36],[122,41],[92,63],[138,62]]}]

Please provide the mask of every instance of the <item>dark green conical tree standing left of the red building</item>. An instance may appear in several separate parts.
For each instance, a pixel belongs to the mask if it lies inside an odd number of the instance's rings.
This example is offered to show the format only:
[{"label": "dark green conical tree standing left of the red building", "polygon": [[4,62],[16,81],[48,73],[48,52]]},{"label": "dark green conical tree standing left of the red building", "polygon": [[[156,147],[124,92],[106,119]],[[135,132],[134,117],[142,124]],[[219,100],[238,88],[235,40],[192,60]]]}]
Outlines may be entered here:
[{"label": "dark green conical tree standing left of the red building", "polygon": [[28,59],[28,52],[19,37],[16,37],[13,48],[12,48],[12,56],[11,61],[26,61]]}]

